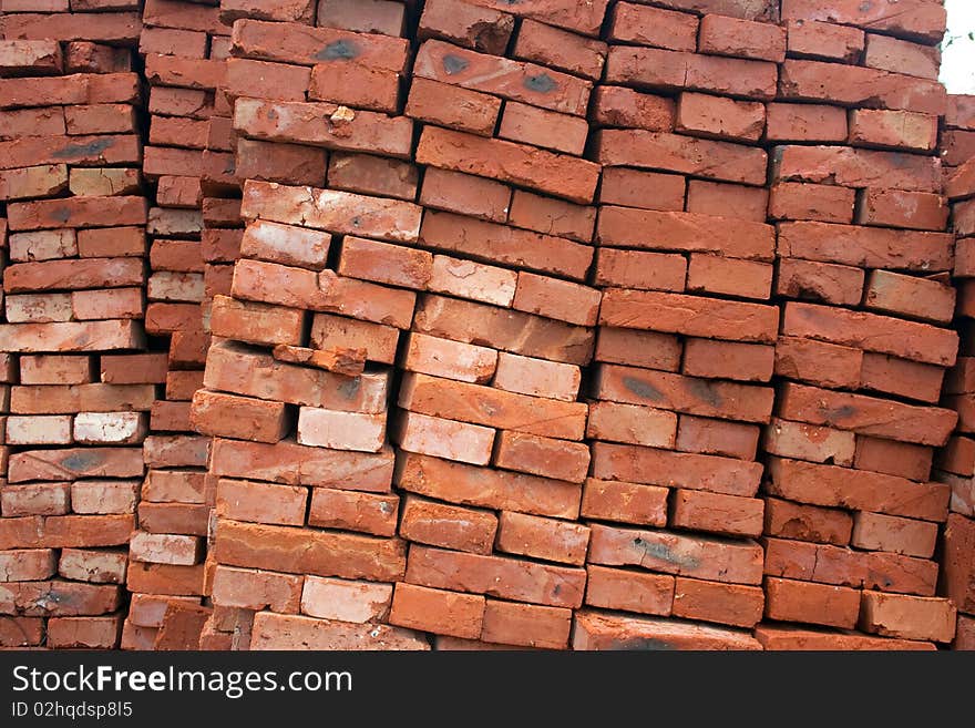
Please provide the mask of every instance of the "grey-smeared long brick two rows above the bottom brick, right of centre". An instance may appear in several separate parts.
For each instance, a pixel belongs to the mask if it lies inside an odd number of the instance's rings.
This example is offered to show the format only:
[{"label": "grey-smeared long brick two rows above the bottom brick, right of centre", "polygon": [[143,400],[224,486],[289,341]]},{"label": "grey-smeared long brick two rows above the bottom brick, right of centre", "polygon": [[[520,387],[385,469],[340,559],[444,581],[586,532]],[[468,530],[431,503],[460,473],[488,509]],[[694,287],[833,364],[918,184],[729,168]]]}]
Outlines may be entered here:
[{"label": "grey-smeared long brick two rows above the bottom brick, right of centre", "polygon": [[731,584],[758,584],[761,554],[761,546],[755,542],[593,524],[588,561]]}]

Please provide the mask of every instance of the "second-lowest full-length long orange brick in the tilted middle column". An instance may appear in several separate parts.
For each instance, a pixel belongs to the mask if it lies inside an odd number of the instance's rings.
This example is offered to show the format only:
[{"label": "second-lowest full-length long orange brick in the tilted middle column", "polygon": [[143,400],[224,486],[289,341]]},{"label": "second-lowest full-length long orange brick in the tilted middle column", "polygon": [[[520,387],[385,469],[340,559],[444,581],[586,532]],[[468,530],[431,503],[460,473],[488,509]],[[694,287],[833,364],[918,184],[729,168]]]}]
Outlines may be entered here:
[{"label": "second-lowest full-length long orange brick in the tilted middle column", "polygon": [[578,515],[578,485],[425,455],[402,455],[396,483],[410,493],[459,505],[563,519]]}]

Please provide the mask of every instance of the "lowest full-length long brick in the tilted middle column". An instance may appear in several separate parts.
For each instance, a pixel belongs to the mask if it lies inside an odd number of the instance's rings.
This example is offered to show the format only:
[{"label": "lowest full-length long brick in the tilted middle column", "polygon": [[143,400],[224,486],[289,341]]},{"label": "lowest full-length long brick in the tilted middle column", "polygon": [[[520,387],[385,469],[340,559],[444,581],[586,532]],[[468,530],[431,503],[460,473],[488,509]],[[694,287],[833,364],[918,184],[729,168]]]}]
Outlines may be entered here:
[{"label": "lowest full-length long brick in the tilted middle column", "polygon": [[545,606],[578,608],[586,572],[505,556],[410,547],[407,582]]}]

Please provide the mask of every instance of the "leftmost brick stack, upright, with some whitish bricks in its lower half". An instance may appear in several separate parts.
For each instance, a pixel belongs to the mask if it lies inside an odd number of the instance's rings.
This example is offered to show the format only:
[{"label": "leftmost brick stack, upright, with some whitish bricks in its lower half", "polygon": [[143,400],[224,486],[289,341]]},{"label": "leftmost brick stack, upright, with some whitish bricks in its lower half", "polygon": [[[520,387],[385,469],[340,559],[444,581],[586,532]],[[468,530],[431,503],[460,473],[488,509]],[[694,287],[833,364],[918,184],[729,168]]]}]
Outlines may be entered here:
[{"label": "leftmost brick stack, upright, with some whitish bricks in its lower half", "polygon": [[105,12],[10,0],[0,18],[8,647],[117,646],[160,375],[138,353],[147,204],[137,6],[80,4]]}]

